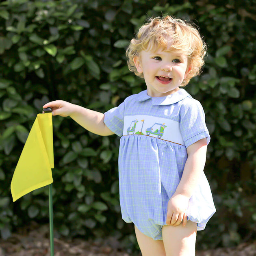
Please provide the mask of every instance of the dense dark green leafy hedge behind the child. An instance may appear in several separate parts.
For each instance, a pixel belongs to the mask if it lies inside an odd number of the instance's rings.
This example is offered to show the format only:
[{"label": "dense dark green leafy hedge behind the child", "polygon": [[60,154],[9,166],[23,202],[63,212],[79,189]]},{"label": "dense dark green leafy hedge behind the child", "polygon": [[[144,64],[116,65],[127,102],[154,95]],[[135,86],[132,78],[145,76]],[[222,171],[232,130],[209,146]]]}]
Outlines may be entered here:
[{"label": "dense dark green leafy hedge behind the child", "polygon": [[[159,2],[159,3],[157,3]],[[254,3],[253,3],[254,2]],[[62,99],[98,111],[145,89],[128,71],[125,48],[145,20],[191,19],[208,44],[202,76],[186,87],[200,100],[211,134],[205,168],[217,213],[198,248],[230,246],[256,221],[255,1],[7,0],[0,3],[0,230],[48,221],[48,189],[11,201],[13,171],[37,113]],[[116,136],[99,137],[54,117],[56,235],[113,235],[135,244],[121,220]]]}]

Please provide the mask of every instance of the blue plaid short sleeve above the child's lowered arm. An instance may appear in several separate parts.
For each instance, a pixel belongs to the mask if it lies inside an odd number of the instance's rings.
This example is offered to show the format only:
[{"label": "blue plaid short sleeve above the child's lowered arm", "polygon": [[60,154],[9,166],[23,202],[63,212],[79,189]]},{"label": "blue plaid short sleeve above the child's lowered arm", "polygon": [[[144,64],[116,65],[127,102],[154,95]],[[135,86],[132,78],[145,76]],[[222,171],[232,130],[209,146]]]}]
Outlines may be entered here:
[{"label": "blue plaid short sleeve above the child's lowered arm", "polygon": [[206,127],[203,107],[197,100],[191,99],[191,103],[182,108],[180,116],[180,132],[185,146],[187,148],[204,138],[207,138],[208,145],[210,135]]}]

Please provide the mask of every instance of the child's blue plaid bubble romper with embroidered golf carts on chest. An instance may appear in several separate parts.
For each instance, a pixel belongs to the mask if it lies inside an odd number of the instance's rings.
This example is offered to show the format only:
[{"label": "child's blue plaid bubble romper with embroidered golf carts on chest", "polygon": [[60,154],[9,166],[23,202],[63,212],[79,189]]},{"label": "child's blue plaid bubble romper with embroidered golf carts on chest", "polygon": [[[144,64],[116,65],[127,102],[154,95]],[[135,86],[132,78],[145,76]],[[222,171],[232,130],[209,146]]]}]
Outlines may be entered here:
[{"label": "child's blue plaid bubble romper with embroidered golf carts on chest", "polygon": [[[153,98],[147,90],[131,95],[104,113],[104,123],[120,138],[119,193],[122,219],[143,234],[162,239],[167,204],[180,182],[187,147],[210,135],[202,105],[180,89]],[[189,200],[188,219],[203,230],[215,213],[208,180]]]}]

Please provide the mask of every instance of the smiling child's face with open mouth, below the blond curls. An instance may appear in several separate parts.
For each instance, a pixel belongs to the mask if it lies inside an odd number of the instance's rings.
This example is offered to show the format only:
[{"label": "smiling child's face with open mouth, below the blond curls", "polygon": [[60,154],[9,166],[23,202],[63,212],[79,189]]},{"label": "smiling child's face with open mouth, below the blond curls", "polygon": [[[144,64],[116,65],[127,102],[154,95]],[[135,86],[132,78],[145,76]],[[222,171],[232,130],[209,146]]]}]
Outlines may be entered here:
[{"label": "smiling child's face with open mouth, below the blond curls", "polygon": [[186,54],[163,48],[142,50],[134,62],[137,71],[143,73],[151,97],[167,96],[178,91],[190,70]]}]

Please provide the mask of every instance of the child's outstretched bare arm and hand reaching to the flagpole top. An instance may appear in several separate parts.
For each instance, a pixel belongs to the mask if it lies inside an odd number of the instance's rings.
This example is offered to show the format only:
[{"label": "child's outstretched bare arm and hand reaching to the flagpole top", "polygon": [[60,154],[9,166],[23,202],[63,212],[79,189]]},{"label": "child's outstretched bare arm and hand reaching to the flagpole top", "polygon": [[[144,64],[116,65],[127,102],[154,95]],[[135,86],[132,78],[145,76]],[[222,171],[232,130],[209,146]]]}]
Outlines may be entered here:
[{"label": "child's outstretched bare arm and hand reaching to the flagpole top", "polygon": [[63,100],[55,100],[43,105],[43,108],[52,108],[52,115],[60,115],[62,117],[70,116],[80,126],[86,130],[101,136],[112,135],[112,132],[104,124],[104,114],[78,106]]}]

